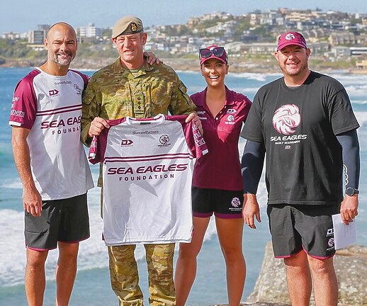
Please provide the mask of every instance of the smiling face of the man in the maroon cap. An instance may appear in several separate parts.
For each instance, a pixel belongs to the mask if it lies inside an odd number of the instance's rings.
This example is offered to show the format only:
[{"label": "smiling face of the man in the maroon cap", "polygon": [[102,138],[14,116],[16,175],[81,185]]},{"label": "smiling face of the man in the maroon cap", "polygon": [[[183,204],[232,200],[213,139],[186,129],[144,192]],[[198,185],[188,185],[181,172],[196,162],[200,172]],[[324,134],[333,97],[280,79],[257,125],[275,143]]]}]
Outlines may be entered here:
[{"label": "smiling face of the man in the maroon cap", "polygon": [[274,53],[279,67],[286,79],[302,79],[309,73],[308,57],[310,49],[298,45],[288,45]]}]

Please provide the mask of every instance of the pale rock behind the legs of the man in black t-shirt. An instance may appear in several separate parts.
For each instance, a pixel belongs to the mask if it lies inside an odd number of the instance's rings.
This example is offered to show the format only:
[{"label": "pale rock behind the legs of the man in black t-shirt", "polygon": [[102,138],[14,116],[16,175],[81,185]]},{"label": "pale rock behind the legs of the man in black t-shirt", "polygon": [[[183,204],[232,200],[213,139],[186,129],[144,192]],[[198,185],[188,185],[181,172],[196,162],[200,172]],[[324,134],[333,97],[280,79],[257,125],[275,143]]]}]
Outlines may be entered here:
[{"label": "pale rock behind the legs of the man in black t-shirt", "polygon": [[[367,305],[367,247],[353,245],[338,250],[334,256],[334,266],[339,283],[339,305]],[[247,302],[255,301],[290,304],[286,268],[283,260],[274,259],[270,242],[265,248],[264,261],[254,291],[247,299]],[[315,305],[313,294],[311,305]]]}]

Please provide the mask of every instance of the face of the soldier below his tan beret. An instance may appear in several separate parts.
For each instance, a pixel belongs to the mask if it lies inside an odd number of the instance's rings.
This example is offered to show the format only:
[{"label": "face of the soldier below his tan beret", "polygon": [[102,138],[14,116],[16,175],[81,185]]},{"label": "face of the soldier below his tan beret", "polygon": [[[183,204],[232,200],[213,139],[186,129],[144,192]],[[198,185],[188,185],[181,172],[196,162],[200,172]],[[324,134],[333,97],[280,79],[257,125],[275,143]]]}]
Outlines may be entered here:
[{"label": "face of the soldier below his tan beret", "polygon": [[120,61],[128,69],[139,69],[144,64],[143,46],[147,42],[147,33],[120,35],[113,38],[118,49]]}]

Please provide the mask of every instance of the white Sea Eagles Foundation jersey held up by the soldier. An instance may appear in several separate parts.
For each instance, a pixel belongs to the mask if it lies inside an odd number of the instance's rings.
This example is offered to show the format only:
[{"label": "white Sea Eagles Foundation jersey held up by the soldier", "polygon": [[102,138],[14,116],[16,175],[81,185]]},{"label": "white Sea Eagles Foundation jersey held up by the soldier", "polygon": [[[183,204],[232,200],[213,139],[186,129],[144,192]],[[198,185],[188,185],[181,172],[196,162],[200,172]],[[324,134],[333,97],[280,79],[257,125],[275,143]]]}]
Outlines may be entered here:
[{"label": "white Sea Eagles Foundation jersey held up by the soldier", "polygon": [[106,245],[190,242],[193,159],[208,152],[186,115],[108,120],[89,161],[103,162]]}]

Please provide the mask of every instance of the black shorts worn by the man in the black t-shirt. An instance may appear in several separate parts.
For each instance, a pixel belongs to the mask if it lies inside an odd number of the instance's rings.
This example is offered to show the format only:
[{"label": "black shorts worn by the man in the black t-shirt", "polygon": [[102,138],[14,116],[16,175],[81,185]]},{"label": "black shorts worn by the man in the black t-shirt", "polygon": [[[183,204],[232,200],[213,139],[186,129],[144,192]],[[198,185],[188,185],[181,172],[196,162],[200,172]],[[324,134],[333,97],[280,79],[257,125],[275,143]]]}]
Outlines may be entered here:
[{"label": "black shorts worn by the man in the black t-shirt", "polygon": [[332,215],[339,205],[268,205],[267,213],[275,257],[302,249],[317,259],[334,256]]}]

